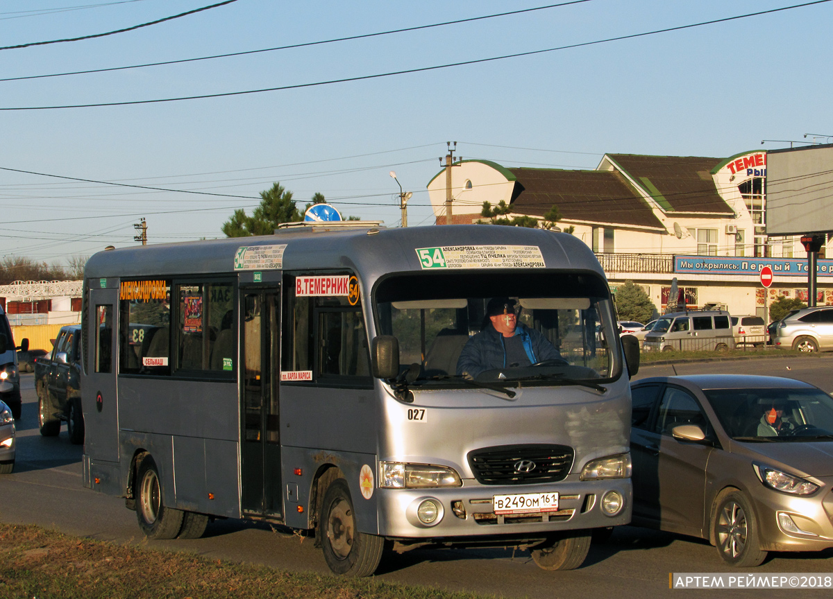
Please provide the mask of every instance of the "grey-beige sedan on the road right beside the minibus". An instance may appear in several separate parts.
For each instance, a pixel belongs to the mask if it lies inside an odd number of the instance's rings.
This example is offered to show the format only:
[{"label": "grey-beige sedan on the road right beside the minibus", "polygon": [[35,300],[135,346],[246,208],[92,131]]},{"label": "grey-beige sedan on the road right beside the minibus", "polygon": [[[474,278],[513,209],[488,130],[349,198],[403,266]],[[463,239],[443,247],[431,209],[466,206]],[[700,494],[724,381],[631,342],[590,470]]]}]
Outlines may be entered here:
[{"label": "grey-beige sedan on the road right beside the minibus", "polygon": [[733,566],[833,547],[833,399],[794,379],[631,385],[632,523],[700,537]]}]

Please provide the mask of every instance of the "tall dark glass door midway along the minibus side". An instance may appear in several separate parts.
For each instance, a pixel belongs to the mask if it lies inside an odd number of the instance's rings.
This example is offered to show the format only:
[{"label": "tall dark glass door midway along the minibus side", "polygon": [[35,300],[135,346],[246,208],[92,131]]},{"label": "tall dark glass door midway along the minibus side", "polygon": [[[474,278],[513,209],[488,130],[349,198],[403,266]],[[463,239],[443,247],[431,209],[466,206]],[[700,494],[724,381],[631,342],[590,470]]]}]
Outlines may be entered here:
[{"label": "tall dark glass door midway along the minibus side", "polygon": [[242,290],[242,511],[282,515],[278,418],[280,291]]}]

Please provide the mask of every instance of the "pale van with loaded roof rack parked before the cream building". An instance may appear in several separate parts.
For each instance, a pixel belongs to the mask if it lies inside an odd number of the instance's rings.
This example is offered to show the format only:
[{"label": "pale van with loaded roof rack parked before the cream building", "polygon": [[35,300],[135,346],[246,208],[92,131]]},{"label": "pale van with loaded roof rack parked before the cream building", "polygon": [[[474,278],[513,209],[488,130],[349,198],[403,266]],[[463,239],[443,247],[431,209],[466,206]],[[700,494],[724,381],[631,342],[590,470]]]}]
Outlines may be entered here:
[{"label": "pale van with loaded roof rack parked before the cream building", "polygon": [[686,310],[664,314],[646,334],[646,351],[700,351],[735,348],[731,316],[723,310]]}]

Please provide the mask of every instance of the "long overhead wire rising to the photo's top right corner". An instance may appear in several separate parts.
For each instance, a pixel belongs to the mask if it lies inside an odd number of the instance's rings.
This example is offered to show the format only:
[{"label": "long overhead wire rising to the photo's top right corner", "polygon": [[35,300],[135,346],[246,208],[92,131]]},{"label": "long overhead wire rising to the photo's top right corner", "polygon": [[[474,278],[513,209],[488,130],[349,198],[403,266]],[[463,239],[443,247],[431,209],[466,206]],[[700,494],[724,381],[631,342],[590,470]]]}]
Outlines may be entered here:
[{"label": "long overhead wire rising to the photo's top right corner", "polygon": [[576,47],[585,47],[585,46],[593,46],[596,44],[602,44],[607,42],[619,42],[621,40],[626,39],[634,39],[636,37],[646,37],[651,35],[656,35],[657,33],[667,33],[673,31],[681,31],[683,29],[691,29],[694,27],[703,27],[705,25],[714,25],[716,23],[721,22],[729,22],[729,21],[736,21],[742,18],[748,17],[758,17],[765,14],[771,14],[774,12],[783,12],[787,10],[791,10],[793,8],[801,8],[801,7],[808,7],[814,4],[824,4],[826,2],[831,2],[831,0],[816,0],[815,2],[803,2],[801,4],[793,4],[788,7],[781,7],[781,8],[771,8],[765,11],[757,11],[757,12],[747,12],[746,14],[736,15],[735,17],[723,17],[718,19],[711,19],[711,21],[701,21],[696,23],[691,23],[689,25],[679,25],[677,27],[665,27],[663,29],[655,29],[650,32],[641,32],[641,33],[631,33],[629,35],[624,36],[616,36],[616,37],[607,37],[605,39],[596,40],[593,42],[580,42],[575,44],[569,44],[566,46],[558,46],[558,47],[551,47],[546,48],[544,50],[531,50],[530,52],[516,52],[514,54],[505,54],[499,57],[490,57],[490,58],[478,58],[475,60],[470,61],[461,61],[461,62],[449,62],[443,65],[436,65],[433,67],[420,67],[420,68],[412,68],[412,69],[403,69],[401,71],[391,71],[391,72],[384,72],[384,73],[377,73],[375,75],[362,75],[358,77],[343,77],[341,79],[330,79],[327,81],[322,82],[313,82],[313,83],[297,83],[295,85],[287,85],[287,86],[278,86],[278,87],[264,87],[262,89],[255,89],[255,90],[247,90],[243,92],[220,92],[220,93],[213,93],[213,94],[200,94],[196,96],[182,96],[182,97],[169,97],[169,98],[158,98],[156,100],[128,100],[128,101],[113,101],[113,102],[95,102],[90,104],[65,104],[65,105],[58,105],[58,106],[14,106],[14,107],[2,107],[0,111],[33,111],[33,110],[56,110],[59,108],[98,108],[102,106],[132,106],[137,104],[160,104],[162,102],[172,102],[172,101],[185,101],[185,100],[203,100],[207,98],[217,98],[217,97],[232,97],[232,96],[245,96],[248,94],[255,94],[255,93],[263,93],[263,92],[282,92],[285,90],[291,89],[301,89],[303,87],[319,87],[325,85],[332,85],[334,83],[347,83],[347,82],[357,82],[357,81],[367,81],[369,79],[380,79],[382,77],[392,77],[394,75],[405,75],[408,73],[415,73],[415,72],[427,72],[427,71],[438,71],[440,69],[451,68],[451,67],[462,67],[466,65],[472,64],[480,64],[484,62],[495,62],[499,60],[505,60],[506,58],[517,58],[517,57],[527,57],[527,56],[534,56],[536,54],[544,54],[546,52],[557,52],[560,50],[568,50],[571,48]]}]

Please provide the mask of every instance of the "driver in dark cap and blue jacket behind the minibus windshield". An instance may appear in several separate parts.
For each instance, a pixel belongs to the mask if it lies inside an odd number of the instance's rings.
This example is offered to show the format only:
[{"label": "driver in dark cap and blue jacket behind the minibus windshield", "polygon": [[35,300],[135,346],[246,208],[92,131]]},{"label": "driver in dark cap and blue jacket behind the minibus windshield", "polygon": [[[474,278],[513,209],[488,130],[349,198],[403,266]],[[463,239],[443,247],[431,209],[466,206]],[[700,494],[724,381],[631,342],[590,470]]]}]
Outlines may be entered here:
[{"label": "driver in dark cap and blue jacket behind the minibus windshield", "polygon": [[509,298],[490,299],[486,316],[490,322],[463,347],[457,374],[476,378],[486,370],[561,359],[558,350],[541,333],[517,321],[515,302]]}]

